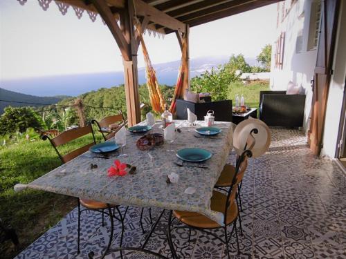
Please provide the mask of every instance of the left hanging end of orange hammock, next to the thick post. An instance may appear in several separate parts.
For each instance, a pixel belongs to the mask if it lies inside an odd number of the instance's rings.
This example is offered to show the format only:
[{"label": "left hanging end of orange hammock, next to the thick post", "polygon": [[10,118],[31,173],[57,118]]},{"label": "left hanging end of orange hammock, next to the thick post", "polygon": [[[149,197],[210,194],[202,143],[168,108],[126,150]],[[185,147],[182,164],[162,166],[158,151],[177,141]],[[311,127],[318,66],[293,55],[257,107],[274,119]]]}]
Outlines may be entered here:
[{"label": "left hanging end of orange hammock, next to the thick post", "polygon": [[152,108],[154,111],[156,111],[156,113],[162,113],[163,109],[165,108],[165,99],[163,99],[163,95],[161,93],[160,87],[158,86],[155,70],[154,70],[154,67],[152,66],[152,61],[150,61],[149,59],[147,47],[145,46],[143,36],[140,33],[139,26],[137,26],[137,32],[140,37],[140,44],[142,45],[142,50],[143,50],[150,104],[152,104]]}]

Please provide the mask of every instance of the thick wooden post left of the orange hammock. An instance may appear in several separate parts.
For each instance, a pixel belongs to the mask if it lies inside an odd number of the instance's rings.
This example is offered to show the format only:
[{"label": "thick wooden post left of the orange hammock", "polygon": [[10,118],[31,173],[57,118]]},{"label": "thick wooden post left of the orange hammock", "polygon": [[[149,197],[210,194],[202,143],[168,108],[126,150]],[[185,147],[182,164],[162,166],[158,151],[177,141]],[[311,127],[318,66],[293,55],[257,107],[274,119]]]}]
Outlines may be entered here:
[{"label": "thick wooden post left of the orange hammock", "polygon": [[120,12],[120,28],[129,44],[129,57],[122,56],[124,65],[127,120],[129,126],[140,122],[140,99],[138,94],[137,50],[138,41],[134,30],[134,2],[128,0]]}]

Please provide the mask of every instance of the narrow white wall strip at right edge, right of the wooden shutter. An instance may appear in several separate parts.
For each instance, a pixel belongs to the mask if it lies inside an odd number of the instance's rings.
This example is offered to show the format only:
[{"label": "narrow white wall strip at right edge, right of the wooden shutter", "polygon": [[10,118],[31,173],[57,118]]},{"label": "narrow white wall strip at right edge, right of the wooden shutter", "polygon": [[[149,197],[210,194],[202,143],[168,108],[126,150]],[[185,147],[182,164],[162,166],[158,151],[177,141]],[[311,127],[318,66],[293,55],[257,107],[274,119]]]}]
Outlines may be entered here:
[{"label": "narrow white wall strip at right edge, right of the wooden shutter", "polygon": [[334,157],[346,78],[346,2],[341,1],[333,69],[329,85],[322,155]]}]

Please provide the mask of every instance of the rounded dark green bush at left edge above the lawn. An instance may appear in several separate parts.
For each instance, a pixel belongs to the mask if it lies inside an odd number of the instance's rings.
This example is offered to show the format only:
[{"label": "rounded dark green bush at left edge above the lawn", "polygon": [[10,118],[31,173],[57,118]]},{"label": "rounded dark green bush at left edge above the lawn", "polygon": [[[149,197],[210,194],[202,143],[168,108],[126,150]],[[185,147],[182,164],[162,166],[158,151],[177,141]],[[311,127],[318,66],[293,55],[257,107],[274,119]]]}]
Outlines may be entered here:
[{"label": "rounded dark green bush at left edge above the lawn", "polygon": [[24,133],[27,128],[42,128],[41,117],[30,107],[6,107],[0,117],[0,135]]}]

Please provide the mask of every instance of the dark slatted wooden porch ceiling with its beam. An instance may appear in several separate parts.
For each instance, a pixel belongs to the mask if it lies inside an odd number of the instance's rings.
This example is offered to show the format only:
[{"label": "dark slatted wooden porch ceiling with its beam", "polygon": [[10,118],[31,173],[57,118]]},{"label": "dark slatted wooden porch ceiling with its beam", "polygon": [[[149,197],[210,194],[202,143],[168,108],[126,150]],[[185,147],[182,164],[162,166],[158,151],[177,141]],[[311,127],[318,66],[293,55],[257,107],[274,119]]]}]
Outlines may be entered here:
[{"label": "dark slatted wooden porch ceiling with its beam", "polygon": [[[71,6],[98,12],[93,0],[57,0]],[[114,17],[118,19],[127,0],[106,0]],[[184,32],[184,23],[190,27],[237,15],[282,0],[129,0],[134,1],[136,15],[149,17],[147,28],[161,33],[176,30]]]}]

